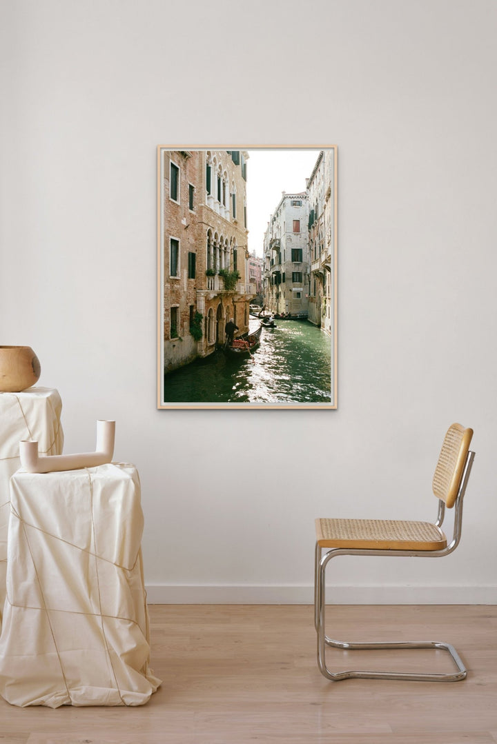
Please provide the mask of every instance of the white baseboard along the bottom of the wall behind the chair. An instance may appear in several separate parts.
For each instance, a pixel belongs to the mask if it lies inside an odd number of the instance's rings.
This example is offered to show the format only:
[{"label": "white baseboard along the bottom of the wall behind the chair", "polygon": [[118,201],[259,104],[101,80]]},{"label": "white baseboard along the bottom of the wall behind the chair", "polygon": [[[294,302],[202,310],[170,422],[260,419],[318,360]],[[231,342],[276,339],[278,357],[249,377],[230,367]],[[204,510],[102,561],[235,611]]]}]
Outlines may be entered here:
[{"label": "white baseboard along the bottom of the wall behind the chair", "polygon": [[[305,604],[311,586],[146,587],[149,604]],[[497,586],[330,586],[330,604],[497,604]]]}]

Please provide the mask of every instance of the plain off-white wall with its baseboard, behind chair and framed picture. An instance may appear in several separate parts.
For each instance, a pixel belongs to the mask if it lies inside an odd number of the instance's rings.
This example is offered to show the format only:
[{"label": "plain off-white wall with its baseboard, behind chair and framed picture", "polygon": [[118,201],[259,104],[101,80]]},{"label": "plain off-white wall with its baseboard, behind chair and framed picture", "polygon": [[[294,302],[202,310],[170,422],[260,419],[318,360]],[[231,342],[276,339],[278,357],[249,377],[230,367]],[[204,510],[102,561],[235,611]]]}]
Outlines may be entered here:
[{"label": "plain off-white wall with its baseboard, behind chair and framed picture", "polygon": [[[151,600],[310,601],[314,517],[431,519],[458,420],[458,551],[330,580],[497,601],[496,25],[493,0],[0,4],[1,343],[37,351],[66,452],[117,420]],[[156,410],[156,145],[209,142],[338,144],[338,411]]]}]

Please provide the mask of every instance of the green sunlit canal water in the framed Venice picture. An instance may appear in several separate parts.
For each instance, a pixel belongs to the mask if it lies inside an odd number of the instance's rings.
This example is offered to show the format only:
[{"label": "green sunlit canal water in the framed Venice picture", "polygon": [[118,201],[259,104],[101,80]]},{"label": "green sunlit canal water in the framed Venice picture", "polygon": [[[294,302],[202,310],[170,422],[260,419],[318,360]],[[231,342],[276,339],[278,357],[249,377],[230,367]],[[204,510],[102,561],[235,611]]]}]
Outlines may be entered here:
[{"label": "green sunlit canal water in the framed Venice picture", "polygon": [[[259,321],[250,319],[250,330]],[[330,403],[330,338],[308,321],[263,328],[251,357],[216,351],[164,377],[165,403]]]}]

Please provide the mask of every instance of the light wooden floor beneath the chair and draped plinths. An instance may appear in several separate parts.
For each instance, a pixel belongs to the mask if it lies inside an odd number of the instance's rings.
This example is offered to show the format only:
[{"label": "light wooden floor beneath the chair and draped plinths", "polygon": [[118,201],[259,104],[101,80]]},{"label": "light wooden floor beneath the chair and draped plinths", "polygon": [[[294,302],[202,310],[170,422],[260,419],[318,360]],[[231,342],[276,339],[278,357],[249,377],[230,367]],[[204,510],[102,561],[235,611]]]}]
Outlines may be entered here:
[{"label": "light wooden floor beneath the chair and draped plinths", "polygon": [[[0,699],[0,744],[497,742],[496,606],[329,608],[329,635],[340,640],[451,642],[469,670],[451,683],[328,682],[308,606],[155,605],[150,614],[163,684],[148,705],[51,710]],[[452,670],[446,652],[403,653],[404,668]],[[378,654],[332,650],[329,666],[399,667],[398,652]]]}]

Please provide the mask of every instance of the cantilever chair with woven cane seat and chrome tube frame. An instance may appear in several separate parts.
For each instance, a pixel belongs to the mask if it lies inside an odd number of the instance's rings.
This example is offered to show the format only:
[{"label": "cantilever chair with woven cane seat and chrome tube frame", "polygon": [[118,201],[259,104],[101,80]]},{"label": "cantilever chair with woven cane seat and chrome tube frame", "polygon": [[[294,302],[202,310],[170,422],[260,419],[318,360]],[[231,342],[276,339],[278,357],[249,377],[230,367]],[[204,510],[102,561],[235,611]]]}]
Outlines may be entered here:
[{"label": "cantilever chair with woven cane seat and chrome tube frame", "polygon": [[[337,682],[348,677],[362,679],[410,679],[426,682],[456,682],[466,677],[466,669],[453,646],[443,641],[406,641],[389,643],[346,643],[326,635],[326,566],[343,555],[417,556],[437,558],[449,555],[460,541],[463,497],[475,453],[469,450],[472,429],[455,423],[443,440],[433,477],[433,493],[439,499],[438,515],[431,522],[402,522],[381,519],[316,519],[314,574],[314,623],[317,631],[317,663],[326,679]],[[455,508],[451,542],[441,530],[445,508]],[[323,548],[329,548],[323,555]],[[449,674],[375,672],[346,670],[332,672],[326,666],[326,647],[342,650],[366,649],[442,649],[449,652],[457,671]]]}]

